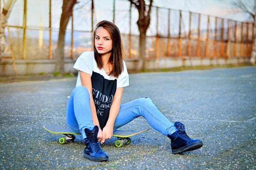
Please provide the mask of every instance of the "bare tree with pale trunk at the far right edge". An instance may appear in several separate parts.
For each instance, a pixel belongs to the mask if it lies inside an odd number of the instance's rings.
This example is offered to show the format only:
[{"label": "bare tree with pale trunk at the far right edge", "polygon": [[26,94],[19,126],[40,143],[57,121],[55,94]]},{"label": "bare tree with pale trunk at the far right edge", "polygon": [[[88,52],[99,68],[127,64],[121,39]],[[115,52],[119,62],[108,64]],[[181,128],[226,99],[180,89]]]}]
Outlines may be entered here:
[{"label": "bare tree with pale trunk at the far right edge", "polygon": [[[254,5],[252,3],[253,1],[254,1]],[[250,1],[236,0],[235,2],[233,2],[233,6],[240,9],[242,12],[250,14],[250,17],[253,18],[254,27],[256,28],[256,0],[250,0]],[[255,65],[255,61],[256,61],[256,36],[254,37],[254,40],[253,40],[253,51],[250,56],[250,63]]]}]

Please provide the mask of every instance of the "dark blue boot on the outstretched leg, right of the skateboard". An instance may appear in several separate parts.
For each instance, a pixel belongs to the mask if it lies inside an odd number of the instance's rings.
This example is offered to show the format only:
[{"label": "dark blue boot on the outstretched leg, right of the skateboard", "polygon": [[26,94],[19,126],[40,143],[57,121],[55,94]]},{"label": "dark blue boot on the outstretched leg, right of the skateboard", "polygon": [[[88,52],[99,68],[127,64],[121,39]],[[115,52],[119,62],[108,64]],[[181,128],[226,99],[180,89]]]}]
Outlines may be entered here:
[{"label": "dark blue boot on the outstretched leg, right of the skateboard", "polygon": [[191,139],[186,134],[184,124],[175,122],[174,126],[178,129],[172,135],[168,135],[171,139],[172,153],[182,153],[190,150],[196,150],[203,146],[200,139]]}]

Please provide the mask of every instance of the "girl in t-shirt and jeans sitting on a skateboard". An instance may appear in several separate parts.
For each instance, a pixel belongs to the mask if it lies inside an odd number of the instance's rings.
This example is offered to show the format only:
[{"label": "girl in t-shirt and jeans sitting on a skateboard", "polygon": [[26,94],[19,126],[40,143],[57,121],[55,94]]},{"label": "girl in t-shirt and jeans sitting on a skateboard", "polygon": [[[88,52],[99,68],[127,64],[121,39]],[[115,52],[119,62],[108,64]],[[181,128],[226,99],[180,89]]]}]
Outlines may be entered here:
[{"label": "girl in t-shirt and jeans sitting on a skateboard", "polygon": [[107,161],[101,149],[113,130],[143,116],[148,123],[171,139],[172,153],[202,147],[199,139],[186,135],[180,122],[172,124],[152,103],[139,98],[121,105],[123,88],[129,85],[129,75],[123,61],[119,29],[109,21],[101,21],[93,33],[93,52],[84,52],[74,68],[79,71],[76,88],[67,104],[67,124],[81,133],[86,148],[83,156],[92,161]]}]

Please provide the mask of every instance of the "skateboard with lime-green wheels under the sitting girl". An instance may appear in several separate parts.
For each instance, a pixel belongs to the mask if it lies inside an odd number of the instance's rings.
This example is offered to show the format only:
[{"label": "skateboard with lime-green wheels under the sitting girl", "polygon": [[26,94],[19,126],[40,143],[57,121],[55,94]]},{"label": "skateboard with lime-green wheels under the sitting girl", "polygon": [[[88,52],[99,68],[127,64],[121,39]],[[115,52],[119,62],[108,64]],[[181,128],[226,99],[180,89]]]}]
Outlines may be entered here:
[{"label": "skateboard with lime-green wheels under the sitting girl", "polygon": [[[65,144],[66,142],[74,141],[75,140],[75,135],[81,135],[81,133],[76,133],[73,130],[69,128],[64,128],[60,126],[55,126],[55,125],[50,125],[46,124],[43,126],[45,130],[47,130],[50,133],[53,134],[63,134],[64,137],[59,138],[59,143],[60,144]],[[122,147],[124,144],[130,144],[131,143],[131,136],[138,135],[140,133],[143,133],[145,131],[149,130],[144,129],[140,131],[133,131],[133,130],[114,130],[113,131],[113,136],[117,137],[117,140],[115,142],[116,147]]]}]

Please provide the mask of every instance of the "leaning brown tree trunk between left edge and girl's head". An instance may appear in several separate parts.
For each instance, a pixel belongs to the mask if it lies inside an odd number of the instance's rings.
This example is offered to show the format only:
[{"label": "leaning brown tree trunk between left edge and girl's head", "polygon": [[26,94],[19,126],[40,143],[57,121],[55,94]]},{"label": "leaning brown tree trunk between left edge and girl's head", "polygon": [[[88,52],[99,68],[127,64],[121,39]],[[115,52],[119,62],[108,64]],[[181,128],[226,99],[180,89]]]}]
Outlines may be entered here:
[{"label": "leaning brown tree trunk between left edge and girl's head", "polygon": [[63,0],[62,14],[60,21],[60,29],[57,43],[57,58],[54,72],[60,72],[64,74],[64,45],[67,23],[73,12],[73,6],[76,4],[76,0]]}]

